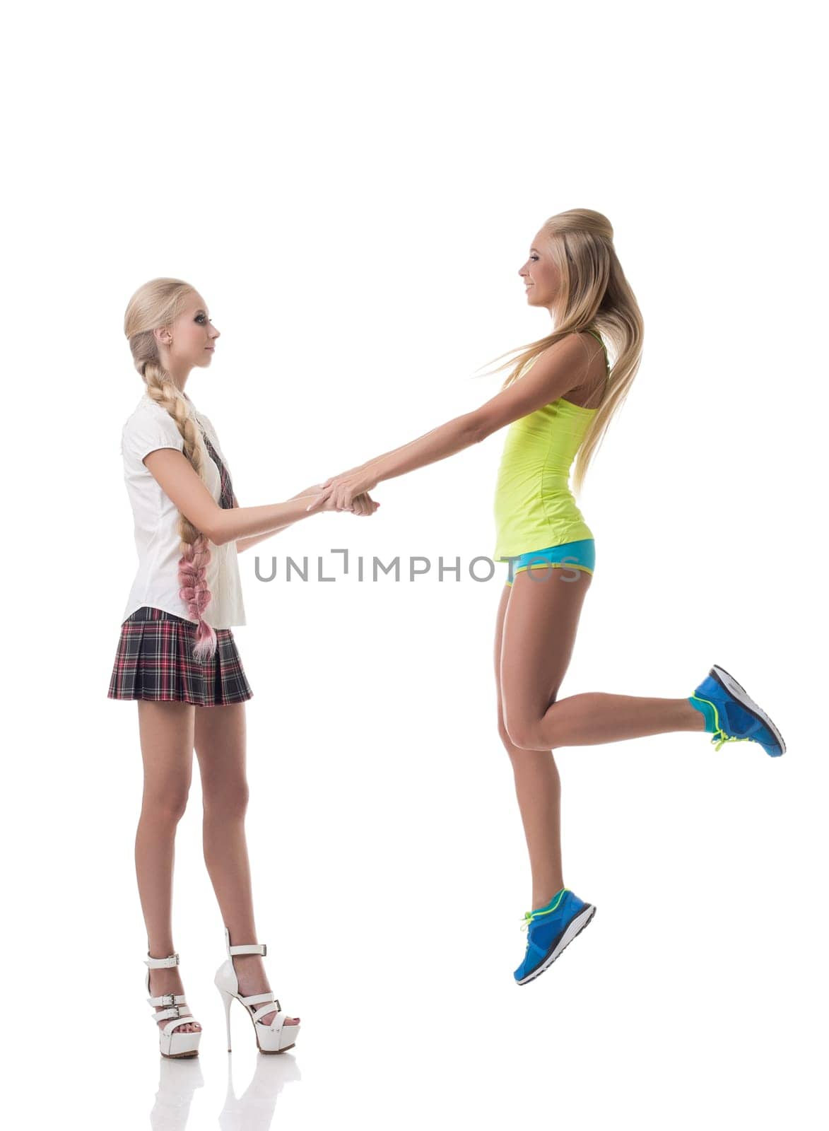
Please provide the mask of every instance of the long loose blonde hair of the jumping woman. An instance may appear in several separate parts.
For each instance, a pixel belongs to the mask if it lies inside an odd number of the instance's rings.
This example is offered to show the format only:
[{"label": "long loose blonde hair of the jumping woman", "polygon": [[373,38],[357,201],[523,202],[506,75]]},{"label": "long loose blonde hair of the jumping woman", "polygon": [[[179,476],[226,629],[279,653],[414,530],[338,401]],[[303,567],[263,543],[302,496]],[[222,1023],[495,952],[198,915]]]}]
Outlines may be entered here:
[{"label": "long loose blonde hair of the jumping woman", "polygon": [[605,344],[610,344],[608,352],[615,360],[607,389],[576,456],[573,487],[580,491],[590,459],[639,369],[645,322],[616,258],[613,225],[606,216],[591,208],[570,208],[551,216],[541,231],[549,239],[553,260],[561,274],[561,287],[553,307],[555,330],[537,342],[501,354],[500,357],[508,356],[509,360],[490,372],[496,373],[511,366],[502,386],[506,389],[554,342],[588,327],[601,334]]}]

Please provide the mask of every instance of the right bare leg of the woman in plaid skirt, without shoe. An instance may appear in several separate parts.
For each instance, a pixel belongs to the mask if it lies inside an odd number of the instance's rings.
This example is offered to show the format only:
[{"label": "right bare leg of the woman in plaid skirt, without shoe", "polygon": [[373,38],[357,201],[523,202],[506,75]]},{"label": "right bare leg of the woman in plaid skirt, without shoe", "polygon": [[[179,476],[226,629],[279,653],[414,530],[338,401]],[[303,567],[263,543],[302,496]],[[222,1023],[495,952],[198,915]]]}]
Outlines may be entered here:
[{"label": "right bare leg of the woman in plaid skirt, without shoe", "polygon": [[[196,754],[201,772],[205,863],[231,933],[231,943],[257,942],[244,817],[248,809],[244,703],[196,708]],[[270,990],[261,955],[234,955],[242,996]],[[276,1012],[260,1020],[270,1025]],[[296,1025],[300,1018],[286,1018]]]}]

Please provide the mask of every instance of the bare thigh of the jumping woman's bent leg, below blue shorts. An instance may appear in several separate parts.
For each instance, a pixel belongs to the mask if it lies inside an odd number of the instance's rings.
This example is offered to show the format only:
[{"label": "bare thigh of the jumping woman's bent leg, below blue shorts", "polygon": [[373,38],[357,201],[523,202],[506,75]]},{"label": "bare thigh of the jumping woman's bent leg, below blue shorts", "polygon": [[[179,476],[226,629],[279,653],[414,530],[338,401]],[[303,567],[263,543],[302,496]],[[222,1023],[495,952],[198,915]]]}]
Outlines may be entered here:
[{"label": "bare thigh of the jumping woman's bent leg, below blue shorts", "polygon": [[515,577],[501,637],[501,710],[517,746],[532,745],[535,728],[555,702],[593,580],[572,568],[529,575],[526,570]]}]

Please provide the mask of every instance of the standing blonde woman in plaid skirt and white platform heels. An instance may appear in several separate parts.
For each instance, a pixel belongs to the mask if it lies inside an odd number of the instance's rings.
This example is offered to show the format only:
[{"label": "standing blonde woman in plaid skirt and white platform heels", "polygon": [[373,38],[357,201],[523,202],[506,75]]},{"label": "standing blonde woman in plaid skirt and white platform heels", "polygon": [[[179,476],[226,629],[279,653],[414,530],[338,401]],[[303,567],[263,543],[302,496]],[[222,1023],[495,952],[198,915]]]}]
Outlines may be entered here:
[{"label": "standing blonde woman in plaid skirt and white platform heels", "polygon": [[[175,830],[187,805],[196,751],[205,808],[205,860],[225,924],[227,958],[215,984],[235,998],[262,1053],[292,1048],[300,1019],[270,990],[256,942],[244,837],[248,802],[244,703],[252,691],[231,627],[244,624],[236,556],[306,518],[319,485],[285,502],[240,507],[211,422],[184,386],[210,365],[219,336],[201,295],[157,278],[124,316],[145,392],[123,426],[121,454],[135,519],[138,572],[122,618],[111,699],[138,701],[144,797],[136,835],[138,890],[147,924],[147,1001],[165,1056],[196,1056],[201,1026],[190,1012],[173,947]],[[352,512],[372,515],[368,494]],[[333,510],[333,503],[318,509]]]}]

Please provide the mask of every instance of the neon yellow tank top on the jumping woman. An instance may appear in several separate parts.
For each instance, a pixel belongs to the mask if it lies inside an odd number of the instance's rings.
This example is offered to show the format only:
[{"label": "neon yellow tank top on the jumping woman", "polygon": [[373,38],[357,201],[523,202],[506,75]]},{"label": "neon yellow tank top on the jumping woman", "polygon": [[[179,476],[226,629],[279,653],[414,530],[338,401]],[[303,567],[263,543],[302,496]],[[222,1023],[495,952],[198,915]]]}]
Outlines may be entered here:
[{"label": "neon yellow tank top on the jumping woman", "polygon": [[[602,343],[610,377],[607,348]],[[560,397],[507,429],[495,484],[493,560],[591,538],[570,491],[570,467],[597,408]]]}]

